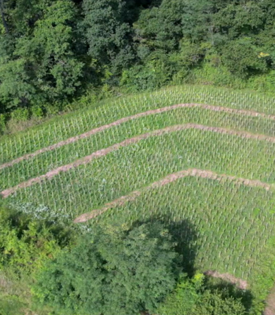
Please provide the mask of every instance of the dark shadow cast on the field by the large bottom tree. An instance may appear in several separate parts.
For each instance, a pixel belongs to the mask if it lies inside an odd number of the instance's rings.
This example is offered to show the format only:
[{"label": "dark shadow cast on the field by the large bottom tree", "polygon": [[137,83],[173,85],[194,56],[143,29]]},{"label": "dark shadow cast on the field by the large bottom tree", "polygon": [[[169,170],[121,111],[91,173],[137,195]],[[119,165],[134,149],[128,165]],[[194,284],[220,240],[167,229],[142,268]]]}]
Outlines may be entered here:
[{"label": "dark shadow cast on the field by the large bottom tree", "polygon": [[161,223],[171,234],[174,242],[176,242],[176,252],[182,257],[182,270],[189,276],[195,273],[195,257],[198,251],[198,232],[195,225],[190,220],[171,221],[169,216],[152,216],[145,221],[138,221],[134,225],[141,223]]}]

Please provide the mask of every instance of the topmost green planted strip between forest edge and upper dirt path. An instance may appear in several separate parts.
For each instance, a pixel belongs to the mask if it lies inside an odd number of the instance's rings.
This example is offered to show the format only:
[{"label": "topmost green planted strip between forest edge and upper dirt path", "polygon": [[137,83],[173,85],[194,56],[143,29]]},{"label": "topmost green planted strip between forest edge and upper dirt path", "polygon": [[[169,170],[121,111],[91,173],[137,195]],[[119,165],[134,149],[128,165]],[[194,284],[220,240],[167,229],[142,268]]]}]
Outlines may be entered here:
[{"label": "topmost green planted strip between forest edge and upper dirt path", "polygon": [[275,99],[248,92],[235,92],[210,87],[182,86],[146,92],[140,95],[108,101],[99,108],[85,108],[53,119],[20,134],[0,138],[0,163],[13,160],[26,153],[55,144],[92,128],[146,110],[163,108],[176,103],[209,103],[228,108],[241,108],[275,113]]}]

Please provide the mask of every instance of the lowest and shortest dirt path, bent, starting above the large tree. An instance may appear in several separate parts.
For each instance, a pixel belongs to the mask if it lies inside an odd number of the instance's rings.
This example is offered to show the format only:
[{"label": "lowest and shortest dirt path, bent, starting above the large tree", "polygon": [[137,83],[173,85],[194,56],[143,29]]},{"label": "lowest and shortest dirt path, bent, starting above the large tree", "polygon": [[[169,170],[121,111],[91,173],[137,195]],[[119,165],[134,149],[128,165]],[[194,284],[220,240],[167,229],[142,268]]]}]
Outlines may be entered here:
[{"label": "lowest and shortest dirt path, bent, starting above the large tree", "polygon": [[[78,216],[77,218],[75,218],[73,222],[75,223],[86,222],[90,220],[91,218],[95,218],[96,216],[99,216],[100,214],[106,212],[112,207],[121,206],[127,203],[128,201],[133,201],[134,199],[136,199],[136,197],[139,197],[141,193],[145,192],[146,190],[150,190],[152,188],[154,189],[154,188],[167,185],[173,181],[176,181],[177,179],[187,177],[187,176],[215,179],[218,181],[222,181],[222,179],[228,179],[230,181],[235,181],[237,184],[250,186],[250,187],[261,187],[261,188],[265,188],[266,190],[270,190],[270,188],[275,188],[274,184],[263,183],[263,181],[259,181],[259,180],[244,179],[244,178],[230,176],[226,174],[217,174],[212,171],[200,170],[198,168],[189,168],[188,170],[185,170],[185,171],[180,171],[174,174],[167,175],[163,179],[160,179],[159,181],[155,181],[153,184],[150,184],[149,186],[146,186],[145,188],[142,188],[141,190],[135,190],[134,192],[131,192],[127,196],[123,196],[123,197],[120,197],[119,199],[111,201],[110,203],[106,203],[104,207],[101,207],[97,210],[93,210],[92,212],[88,212],[86,214],[82,214],[81,216]],[[213,276],[215,277],[215,275]],[[232,279],[230,281],[232,281]],[[243,283],[243,286],[244,286],[244,283]]]}]

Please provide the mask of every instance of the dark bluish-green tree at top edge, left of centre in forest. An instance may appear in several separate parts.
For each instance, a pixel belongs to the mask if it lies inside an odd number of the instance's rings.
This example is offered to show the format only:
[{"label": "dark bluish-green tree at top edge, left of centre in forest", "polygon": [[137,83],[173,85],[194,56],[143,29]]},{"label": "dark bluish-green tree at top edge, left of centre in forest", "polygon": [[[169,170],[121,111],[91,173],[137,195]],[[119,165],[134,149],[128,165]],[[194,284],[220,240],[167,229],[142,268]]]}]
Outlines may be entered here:
[{"label": "dark bluish-green tree at top edge, left of centre in forest", "polygon": [[134,60],[128,6],[124,0],[83,1],[88,54],[100,66],[111,66],[113,73]]}]

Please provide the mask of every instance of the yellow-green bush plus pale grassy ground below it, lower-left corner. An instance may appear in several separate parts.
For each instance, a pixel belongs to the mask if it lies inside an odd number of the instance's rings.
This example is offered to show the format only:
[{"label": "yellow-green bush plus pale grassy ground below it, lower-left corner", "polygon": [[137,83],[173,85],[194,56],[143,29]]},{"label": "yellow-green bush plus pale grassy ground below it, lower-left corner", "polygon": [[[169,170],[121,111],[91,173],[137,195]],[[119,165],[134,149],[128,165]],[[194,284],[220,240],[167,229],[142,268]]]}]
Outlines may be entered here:
[{"label": "yellow-green bush plus pale grassy ground below it, lower-left corner", "polygon": [[[49,220],[0,205],[0,314],[25,314],[34,274],[68,247],[74,232]],[[40,314],[44,313],[40,310]]]}]

